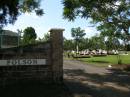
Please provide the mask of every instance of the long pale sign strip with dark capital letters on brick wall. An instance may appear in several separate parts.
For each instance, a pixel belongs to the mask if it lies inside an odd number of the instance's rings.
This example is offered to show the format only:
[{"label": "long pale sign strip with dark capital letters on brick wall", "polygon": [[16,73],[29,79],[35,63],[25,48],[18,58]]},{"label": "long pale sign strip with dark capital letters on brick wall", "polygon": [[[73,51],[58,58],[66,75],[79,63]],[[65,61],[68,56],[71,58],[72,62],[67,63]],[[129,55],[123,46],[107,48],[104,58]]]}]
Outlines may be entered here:
[{"label": "long pale sign strip with dark capital letters on brick wall", "polygon": [[46,65],[46,59],[0,60],[0,66],[10,66],[10,65]]}]

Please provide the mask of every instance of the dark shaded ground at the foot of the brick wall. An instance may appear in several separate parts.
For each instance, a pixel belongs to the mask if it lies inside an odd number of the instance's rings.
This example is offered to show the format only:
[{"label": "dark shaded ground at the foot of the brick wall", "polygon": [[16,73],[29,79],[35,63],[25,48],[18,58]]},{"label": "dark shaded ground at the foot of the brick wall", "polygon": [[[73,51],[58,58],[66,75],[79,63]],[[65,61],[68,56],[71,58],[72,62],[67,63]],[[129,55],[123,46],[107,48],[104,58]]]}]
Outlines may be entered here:
[{"label": "dark shaded ground at the foot of the brick wall", "polygon": [[15,83],[0,88],[0,97],[72,97],[64,84]]}]

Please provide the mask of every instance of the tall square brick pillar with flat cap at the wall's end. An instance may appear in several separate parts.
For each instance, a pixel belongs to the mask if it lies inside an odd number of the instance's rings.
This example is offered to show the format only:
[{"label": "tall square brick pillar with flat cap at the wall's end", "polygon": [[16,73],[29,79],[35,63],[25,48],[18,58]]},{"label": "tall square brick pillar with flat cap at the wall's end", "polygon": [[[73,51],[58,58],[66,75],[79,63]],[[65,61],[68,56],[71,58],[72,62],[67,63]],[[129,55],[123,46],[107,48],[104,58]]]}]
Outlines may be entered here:
[{"label": "tall square brick pillar with flat cap at the wall's end", "polygon": [[52,72],[53,80],[56,83],[63,81],[63,31],[64,29],[51,29],[52,46]]}]

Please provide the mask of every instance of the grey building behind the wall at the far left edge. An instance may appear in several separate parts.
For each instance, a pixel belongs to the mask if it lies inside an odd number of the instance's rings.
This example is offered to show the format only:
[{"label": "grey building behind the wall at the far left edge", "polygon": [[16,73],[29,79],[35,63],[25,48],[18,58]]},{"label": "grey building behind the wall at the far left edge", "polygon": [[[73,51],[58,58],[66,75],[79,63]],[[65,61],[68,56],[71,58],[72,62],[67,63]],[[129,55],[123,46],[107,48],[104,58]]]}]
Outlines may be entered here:
[{"label": "grey building behind the wall at the far left edge", "polygon": [[0,48],[16,47],[19,44],[18,40],[18,33],[9,30],[0,30]]}]

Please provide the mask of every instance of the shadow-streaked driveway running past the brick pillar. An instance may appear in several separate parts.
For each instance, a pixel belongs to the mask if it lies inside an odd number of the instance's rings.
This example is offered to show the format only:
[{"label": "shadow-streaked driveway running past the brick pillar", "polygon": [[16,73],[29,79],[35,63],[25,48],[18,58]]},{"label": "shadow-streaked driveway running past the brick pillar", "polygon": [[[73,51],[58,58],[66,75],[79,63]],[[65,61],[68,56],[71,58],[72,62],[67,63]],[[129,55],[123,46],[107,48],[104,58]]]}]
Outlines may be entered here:
[{"label": "shadow-streaked driveway running past the brick pillar", "polygon": [[64,60],[65,84],[74,97],[130,97],[130,73]]}]

